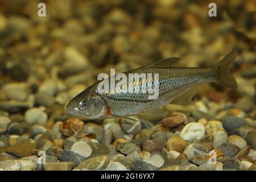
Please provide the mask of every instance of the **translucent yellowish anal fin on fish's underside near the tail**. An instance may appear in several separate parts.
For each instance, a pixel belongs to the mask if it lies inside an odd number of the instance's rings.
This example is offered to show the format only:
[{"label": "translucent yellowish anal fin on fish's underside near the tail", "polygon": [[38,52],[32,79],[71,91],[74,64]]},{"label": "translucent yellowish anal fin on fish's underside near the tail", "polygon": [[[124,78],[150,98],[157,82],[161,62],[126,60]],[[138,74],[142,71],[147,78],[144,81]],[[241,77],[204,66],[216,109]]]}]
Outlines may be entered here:
[{"label": "translucent yellowish anal fin on fish's underside near the tail", "polygon": [[179,97],[175,98],[174,101],[171,101],[171,104],[176,104],[176,105],[189,105],[192,104],[192,98],[195,96],[197,93],[198,88],[197,86],[187,90],[183,94],[181,94]]}]

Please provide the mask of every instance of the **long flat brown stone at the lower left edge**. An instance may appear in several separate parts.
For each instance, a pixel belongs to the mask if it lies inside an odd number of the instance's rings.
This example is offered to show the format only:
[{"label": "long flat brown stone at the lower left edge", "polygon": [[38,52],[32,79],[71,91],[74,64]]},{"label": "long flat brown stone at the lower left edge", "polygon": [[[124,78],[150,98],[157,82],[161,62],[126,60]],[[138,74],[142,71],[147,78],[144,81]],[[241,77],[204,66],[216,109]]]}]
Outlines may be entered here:
[{"label": "long flat brown stone at the lower left edge", "polygon": [[31,156],[32,151],[36,148],[34,143],[21,143],[15,146],[0,148],[0,152],[8,152],[19,157]]}]

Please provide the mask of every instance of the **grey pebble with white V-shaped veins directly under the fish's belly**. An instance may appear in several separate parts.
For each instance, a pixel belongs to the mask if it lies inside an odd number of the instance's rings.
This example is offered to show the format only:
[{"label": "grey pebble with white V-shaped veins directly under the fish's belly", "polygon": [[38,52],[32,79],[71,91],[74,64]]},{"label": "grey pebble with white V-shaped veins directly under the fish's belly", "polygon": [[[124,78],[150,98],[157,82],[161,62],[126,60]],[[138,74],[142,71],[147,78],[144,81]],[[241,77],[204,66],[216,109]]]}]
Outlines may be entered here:
[{"label": "grey pebble with white V-shaped veins directly under the fish's belly", "polygon": [[142,129],[141,121],[137,117],[130,117],[133,119],[126,119],[121,118],[119,121],[120,126],[122,127],[123,131],[128,134],[137,134]]}]

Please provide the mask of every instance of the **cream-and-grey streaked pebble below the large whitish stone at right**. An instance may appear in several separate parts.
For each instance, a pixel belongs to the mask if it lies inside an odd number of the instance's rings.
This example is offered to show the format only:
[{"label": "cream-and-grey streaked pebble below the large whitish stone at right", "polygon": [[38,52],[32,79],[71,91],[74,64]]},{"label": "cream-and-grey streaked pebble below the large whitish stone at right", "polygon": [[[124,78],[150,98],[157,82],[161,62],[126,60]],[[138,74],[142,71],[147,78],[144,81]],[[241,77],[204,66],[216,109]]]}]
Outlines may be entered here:
[{"label": "cream-and-grey streaked pebble below the large whitish stone at right", "polygon": [[208,150],[203,144],[192,143],[185,148],[183,153],[187,155],[188,160],[191,160],[194,156],[207,156]]}]

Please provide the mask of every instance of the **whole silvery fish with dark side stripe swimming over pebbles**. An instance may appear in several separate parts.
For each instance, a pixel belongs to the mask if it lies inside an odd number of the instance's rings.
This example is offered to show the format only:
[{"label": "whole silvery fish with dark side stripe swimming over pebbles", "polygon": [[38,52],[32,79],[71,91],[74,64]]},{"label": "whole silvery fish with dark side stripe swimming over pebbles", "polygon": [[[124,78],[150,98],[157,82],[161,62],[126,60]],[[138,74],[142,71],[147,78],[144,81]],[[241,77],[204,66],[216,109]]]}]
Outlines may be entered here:
[{"label": "whole silvery fish with dark side stripe swimming over pebbles", "polygon": [[[230,63],[237,55],[238,50],[234,49],[219,63],[207,68],[179,67],[181,60],[179,57],[144,65],[124,74],[129,76],[129,73],[157,73],[159,93],[155,100],[149,100],[148,93],[142,92],[97,92],[98,84],[102,84],[102,81],[106,81],[105,79],[110,82],[111,77],[108,77],[95,82],[72,98],[66,106],[66,112],[85,119],[129,118],[167,104],[189,105],[192,104],[192,98],[200,89],[200,85],[204,83],[216,82],[230,89],[237,88],[236,79],[230,72]],[[142,83],[148,84],[149,80],[129,82],[127,86],[139,84],[142,90]]]}]

